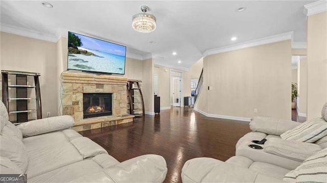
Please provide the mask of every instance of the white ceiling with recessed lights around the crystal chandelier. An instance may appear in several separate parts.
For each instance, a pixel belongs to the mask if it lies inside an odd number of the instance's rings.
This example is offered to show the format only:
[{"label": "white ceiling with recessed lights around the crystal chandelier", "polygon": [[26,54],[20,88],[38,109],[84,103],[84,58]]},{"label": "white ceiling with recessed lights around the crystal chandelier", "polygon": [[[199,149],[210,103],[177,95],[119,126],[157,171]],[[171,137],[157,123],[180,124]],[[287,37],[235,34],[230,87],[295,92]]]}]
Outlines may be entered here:
[{"label": "white ceiling with recessed lights around the crystal chandelier", "polygon": [[[126,45],[130,54],[175,68],[190,68],[207,49],[294,31],[306,42],[303,5],[315,1],[1,1],[1,23],[44,36],[67,31]],[[157,18],[152,33],[131,27],[142,5]],[[237,8],[246,7],[244,12]],[[231,41],[231,37],[237,37]],[[154,41],[155,44],[149,43]],[[177,55],[173,56],[173,51]],[[178,63],[181,61],[181,63]]]}]

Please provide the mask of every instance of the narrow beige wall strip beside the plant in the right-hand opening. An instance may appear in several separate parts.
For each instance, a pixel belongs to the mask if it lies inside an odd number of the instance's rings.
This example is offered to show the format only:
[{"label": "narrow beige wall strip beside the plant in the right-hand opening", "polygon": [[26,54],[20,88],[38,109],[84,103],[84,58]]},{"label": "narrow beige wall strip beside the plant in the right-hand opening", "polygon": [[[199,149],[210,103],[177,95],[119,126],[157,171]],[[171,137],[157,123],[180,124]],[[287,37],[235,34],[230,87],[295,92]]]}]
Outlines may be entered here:
[{"label": "narrow beige wall strip beside the plant in the right-hand opening", "polygon": [[297,67],[297,111],[307,114],[307,90],[308,90],[308,61],[307,58],[300,59]]}]

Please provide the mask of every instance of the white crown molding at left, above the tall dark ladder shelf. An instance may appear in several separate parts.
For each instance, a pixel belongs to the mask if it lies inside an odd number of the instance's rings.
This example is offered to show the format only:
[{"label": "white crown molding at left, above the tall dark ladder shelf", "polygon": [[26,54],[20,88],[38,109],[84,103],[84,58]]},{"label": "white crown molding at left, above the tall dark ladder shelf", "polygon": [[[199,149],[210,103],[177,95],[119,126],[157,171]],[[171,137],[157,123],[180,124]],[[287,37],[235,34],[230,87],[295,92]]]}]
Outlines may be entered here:
[{"label": "white crown molding at left, above the tall dark ladder shelf", "polygon": [[16,25],[10,25],[7,23],[0,23],[0,31],[10,34],[15,34],[19,36],[25,36],[34,39],[40,39],[44,41],[50,41],[56,43],[58,41],[57,37],[52,34],[45,34],[36,30],[26,29],[18,27]]}]

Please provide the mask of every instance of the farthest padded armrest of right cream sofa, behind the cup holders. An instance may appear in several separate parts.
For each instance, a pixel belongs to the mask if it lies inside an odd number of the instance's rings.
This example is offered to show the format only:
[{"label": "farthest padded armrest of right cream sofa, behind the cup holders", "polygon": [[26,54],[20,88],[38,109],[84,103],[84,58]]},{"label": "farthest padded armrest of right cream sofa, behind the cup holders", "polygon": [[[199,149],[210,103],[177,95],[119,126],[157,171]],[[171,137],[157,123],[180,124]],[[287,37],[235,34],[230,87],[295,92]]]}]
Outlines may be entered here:
[{"label": "farthest padded armrest of right cream sofa, behind the cup holders", "polygon": [[269,117],[254,117],[250,122],[250,128],[253,132],[262,132],[270,135],[280,136],[287,130],[293,129],[301,123],[285,119],[275,119]]}]

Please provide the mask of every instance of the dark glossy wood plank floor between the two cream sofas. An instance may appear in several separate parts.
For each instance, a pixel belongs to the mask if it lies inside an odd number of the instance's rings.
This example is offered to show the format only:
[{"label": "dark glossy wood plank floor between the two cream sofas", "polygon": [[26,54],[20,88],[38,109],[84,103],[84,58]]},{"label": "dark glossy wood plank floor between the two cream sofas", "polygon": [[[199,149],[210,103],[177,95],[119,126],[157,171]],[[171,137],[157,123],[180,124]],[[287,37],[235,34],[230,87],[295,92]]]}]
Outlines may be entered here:
[{"label": "dark glossy wood plank floor between the two cream sofas", "polygon": [[168,167],[165,182],[181,182],[181,168],[187,160],[205,156],[226,161],[235,155],[237,141],[248,132],[248,122],[208,118],[193,108],[173,108],[80,134],[120,162],[149,153],[164,156]]}]

